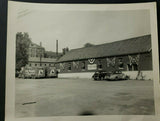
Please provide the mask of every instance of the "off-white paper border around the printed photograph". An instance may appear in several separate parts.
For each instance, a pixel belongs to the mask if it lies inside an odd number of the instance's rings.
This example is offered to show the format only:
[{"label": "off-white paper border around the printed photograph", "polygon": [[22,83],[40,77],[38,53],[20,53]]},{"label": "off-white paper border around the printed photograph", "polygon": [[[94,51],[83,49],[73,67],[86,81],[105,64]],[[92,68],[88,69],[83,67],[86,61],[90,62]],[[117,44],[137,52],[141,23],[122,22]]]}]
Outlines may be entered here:
[{"label": "off-white paper border around the printed photograph", "polygon": [[[15,118],[15,35],[16,16],[19,7],[28,7],[45,11],[119,11],[143,10],[150,11],[152,58],[154,76],[155,115],[98,115],[98,116],[52,116],[34,118]],[[54,7],[53,7],[54,6]],[[157,33],[156,2],[132,4],[40,4],[8,2],[8,32],[7,32],[7,61],[6,61],[6,103],[5,121],[158,121],[160,120],[160,81],[159,54]]]}]

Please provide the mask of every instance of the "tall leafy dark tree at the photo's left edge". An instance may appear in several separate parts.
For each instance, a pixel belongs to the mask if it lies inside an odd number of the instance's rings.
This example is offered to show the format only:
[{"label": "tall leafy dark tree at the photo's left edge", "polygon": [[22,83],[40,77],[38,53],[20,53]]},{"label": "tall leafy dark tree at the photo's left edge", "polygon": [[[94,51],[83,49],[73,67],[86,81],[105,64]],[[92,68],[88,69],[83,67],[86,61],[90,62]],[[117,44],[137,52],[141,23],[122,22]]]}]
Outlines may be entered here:
[{"label": "tall leafy dark tree at the photo's left edge", "polygon": [[31,43],[28,33],[16,34],[16,71],[28,64],[28,48]]}]

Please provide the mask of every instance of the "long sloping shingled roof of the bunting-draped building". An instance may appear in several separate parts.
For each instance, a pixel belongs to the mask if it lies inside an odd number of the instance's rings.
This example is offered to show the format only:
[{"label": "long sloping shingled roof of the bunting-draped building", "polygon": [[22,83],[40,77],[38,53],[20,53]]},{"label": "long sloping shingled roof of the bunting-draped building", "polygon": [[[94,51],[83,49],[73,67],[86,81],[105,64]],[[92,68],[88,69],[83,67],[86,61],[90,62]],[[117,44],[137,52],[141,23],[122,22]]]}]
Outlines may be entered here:
[{"label": "long sloping shingled roof of the bunting-draped building", "polygon": [[151,35],[120,40],[92,47],[73,49],[57,62],[144,53],[151,50]]}]

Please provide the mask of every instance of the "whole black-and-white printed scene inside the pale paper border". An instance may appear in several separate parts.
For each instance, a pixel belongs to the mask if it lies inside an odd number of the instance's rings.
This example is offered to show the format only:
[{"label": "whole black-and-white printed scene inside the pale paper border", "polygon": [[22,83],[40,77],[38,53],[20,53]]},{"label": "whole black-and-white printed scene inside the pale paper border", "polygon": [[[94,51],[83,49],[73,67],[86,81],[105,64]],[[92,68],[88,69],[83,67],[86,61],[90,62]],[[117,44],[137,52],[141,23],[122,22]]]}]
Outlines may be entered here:
[{"label": "whole black-and-white printed scene inside the pale paper border", "polygon": [[14,17],[16,118],[156,114],[150,9],[40,8]]}]

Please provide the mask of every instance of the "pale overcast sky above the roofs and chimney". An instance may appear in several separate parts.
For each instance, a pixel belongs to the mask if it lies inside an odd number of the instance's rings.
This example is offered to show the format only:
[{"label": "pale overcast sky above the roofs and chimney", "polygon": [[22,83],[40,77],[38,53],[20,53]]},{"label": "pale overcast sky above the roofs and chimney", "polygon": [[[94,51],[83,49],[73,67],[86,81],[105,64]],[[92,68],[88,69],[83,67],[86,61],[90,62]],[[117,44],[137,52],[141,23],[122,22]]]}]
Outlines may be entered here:
[{"label": "pale overcast sky above the roofs and chimney", "polygon": [[150,34],[148,10],[132,11],[40,11],[23,10],[17,32],[28,32],[34,43],[48,51],[102,44]]}]

